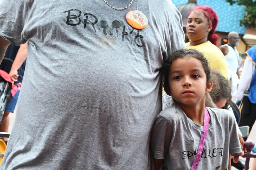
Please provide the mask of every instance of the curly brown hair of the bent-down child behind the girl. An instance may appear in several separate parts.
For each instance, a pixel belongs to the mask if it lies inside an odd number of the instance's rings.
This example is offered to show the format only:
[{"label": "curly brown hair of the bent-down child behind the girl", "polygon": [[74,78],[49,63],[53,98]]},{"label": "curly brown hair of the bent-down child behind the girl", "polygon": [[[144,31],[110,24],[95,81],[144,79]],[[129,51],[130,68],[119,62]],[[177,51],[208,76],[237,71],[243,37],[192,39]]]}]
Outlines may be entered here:
[{"label": "curly brown hair of the bent-down child behind the girl", "polygon": [[211,69],[211,79],[213,81],[212,90],[209,92],[213,103],[225,98],[227,102],[223,109],[227,109],[231,101],[231,83],[220,74],[219,71]]}]

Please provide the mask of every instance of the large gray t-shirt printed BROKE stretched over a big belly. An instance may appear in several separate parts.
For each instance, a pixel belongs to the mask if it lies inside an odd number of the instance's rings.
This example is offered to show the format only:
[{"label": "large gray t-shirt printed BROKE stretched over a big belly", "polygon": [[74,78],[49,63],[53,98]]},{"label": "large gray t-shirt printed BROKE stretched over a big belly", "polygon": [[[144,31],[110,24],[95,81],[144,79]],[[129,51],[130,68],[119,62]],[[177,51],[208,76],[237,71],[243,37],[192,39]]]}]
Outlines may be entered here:
[{"label": "large gray t-shirt printed BROKE stretched over a big belly", "polygon": [[[108,0],[115,7],[129,2]],[[1,169],[149,169],[161,68],[185,47],[170,0],[1,0],[0,36],[28,41],[17,117]],[[126,13],[148,18],[133,29]]]}]

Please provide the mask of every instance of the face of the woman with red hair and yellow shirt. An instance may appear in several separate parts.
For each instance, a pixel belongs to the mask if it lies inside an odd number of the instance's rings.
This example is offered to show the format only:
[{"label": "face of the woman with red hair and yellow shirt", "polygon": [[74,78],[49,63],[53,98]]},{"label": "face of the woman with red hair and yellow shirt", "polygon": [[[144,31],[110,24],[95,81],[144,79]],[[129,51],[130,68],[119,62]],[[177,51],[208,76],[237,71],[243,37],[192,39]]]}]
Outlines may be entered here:
[{"label": "face of the woman with red hair and yellow shirt", "polygon": [[190,41],[208,40],[211,29],[212,25],[202,11],[193,11],[188,16],[186,30]]}]

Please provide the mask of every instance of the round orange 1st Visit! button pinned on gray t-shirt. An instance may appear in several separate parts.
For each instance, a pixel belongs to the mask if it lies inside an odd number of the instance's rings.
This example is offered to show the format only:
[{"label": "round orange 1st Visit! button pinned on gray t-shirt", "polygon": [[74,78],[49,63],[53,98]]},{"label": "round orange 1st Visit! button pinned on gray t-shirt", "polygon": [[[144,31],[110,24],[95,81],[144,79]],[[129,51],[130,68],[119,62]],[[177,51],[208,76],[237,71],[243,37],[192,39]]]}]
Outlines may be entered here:
[{"label": "round orange 1st Visit! button pinned on gray t-shirt", "polygon": [[126,14],[126,20],[133,28],[141,30],[148,25],[148,18],[138,10],[131,10]]}]

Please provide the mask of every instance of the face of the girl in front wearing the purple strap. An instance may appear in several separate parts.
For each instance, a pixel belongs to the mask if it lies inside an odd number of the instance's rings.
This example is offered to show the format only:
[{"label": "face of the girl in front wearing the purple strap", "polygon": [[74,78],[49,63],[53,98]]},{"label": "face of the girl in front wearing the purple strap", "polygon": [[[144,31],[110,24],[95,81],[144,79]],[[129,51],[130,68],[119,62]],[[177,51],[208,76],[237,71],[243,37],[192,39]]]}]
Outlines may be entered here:
[{"label": "face of the girl in front wearing the purple strap", "polygon": [[205,94],[212,89],[201,61],[190,56],[172,62],[168,82],[173,99],[186,106],[205,104]]}]

